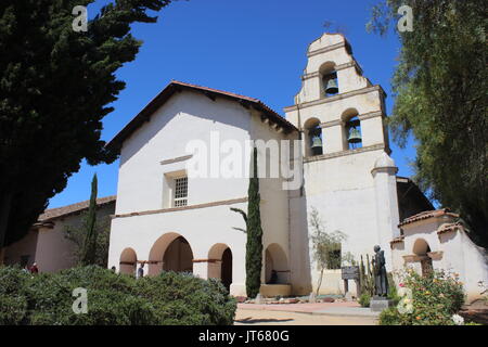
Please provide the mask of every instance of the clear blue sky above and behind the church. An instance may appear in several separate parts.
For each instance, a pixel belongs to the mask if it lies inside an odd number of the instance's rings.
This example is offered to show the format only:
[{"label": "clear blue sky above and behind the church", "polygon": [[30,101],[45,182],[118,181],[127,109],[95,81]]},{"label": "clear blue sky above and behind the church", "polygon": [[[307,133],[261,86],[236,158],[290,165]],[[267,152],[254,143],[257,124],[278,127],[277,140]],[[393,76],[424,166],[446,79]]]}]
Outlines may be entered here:
[{"label": "clear blue sky above and behind the church", "polygon": [[[97,1],[89,16],[110,1]],[[171,79],[222,89],[260,99],[280,114],[293,104],[300,87],[307,46],[326,29],[339,25],[352,46],[364,76],[381,85],[388,114],[393,100],[390,78],[399,43],[393,35],[381,38],[365,31],[376,0],[190,0],[159,12],[157,24],[137,24],[133,35],[144,41],[136,61],[117,72],[127,82],[104,118],[103,140],[111,140]],[[394,143],[393,157],[400,176],[411,176],[415,152]],[[67,188],[50,201],[59,207],[88,200],[94,172],[99,196],[116,194],[118,160],[112,165],[84,163]]]}]

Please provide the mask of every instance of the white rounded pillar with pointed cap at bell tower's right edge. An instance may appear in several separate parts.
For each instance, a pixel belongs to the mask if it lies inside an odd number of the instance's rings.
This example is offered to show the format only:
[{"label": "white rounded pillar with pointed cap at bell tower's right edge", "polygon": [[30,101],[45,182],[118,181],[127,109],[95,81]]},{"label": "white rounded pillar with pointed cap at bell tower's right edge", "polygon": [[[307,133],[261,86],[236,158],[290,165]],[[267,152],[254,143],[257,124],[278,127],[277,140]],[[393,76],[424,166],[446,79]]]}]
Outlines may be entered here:
[{"label": "white rounded pillar with pointed cap at bell tower's right edge", "polygon": [[371,170],[374,178],[377,242],[385,252],[386,269],[388,271],[393,269],[389,242],[400,235],[400,230],[398,229],[397,171],[398,168],[395,166],[395,162],[385,152],[376,159],[374,168]]}]

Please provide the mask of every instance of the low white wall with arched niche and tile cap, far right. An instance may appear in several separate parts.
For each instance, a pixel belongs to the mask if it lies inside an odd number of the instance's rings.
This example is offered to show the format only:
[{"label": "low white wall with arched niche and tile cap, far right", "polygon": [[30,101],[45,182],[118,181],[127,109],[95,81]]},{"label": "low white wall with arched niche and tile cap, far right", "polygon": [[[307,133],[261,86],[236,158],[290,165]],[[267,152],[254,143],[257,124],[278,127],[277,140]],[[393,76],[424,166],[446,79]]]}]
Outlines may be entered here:
[{"label": "low white wall with arched niche and tile cap, far right", "polygon": [[480,299],[488,286],[486,250],[467,235],[459,215],[448,209],[424,211],[401,223],[401,236],[390,241],[396,270],[412,268],[425,275],[444,270],[463,283],[466,301]]}]

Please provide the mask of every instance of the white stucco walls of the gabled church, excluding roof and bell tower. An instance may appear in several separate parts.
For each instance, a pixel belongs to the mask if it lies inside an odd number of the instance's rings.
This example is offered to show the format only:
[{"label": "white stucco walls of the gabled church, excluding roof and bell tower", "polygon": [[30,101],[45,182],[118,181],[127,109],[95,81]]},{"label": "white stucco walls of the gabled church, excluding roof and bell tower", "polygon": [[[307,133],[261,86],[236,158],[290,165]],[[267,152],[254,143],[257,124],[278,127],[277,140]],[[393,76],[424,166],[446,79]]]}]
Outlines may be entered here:
[{"label": "white stucco walls of the gabled church, excluding roof and bell tower", "polygon": [[[153,114],[151,121],[133,132],[123,145],[116,215],[156,211],[113,219],[110,267],[119,268],[120,255],[127,247],[136,250],[138,260],[154,260],[151,259],[151,248],[159,237],[170,234],[170,240],[181,235],[189,242],[194,260],[198,260],[193,265],[193,272],[207,278],[209,268],[211,273],[219,272],[215,269],[216,264],[200,260],[209,259],[209,250],[216,244],[224,244],[230,247],[233,257],[231,293],[245,295],[246,235],[233,229],[244,228],[244,221],[230,207],[246,210],[247,204],[226,202],[247,197],[248,178],[224,178],[219,172],[215,178],[189,177],[188,207],[164,210],[170,207],[164,202],[165,175],[184,172],[190,159],[165,165],[160,162],[187,156],[185,146],[192,140],[201,140],[210,147],[216,134],[220,142],[232,140],[243,147],[252,139],[268,141],[288,137],[261,121],[257,112],[246,110],[236,102],[222,98],[213,101],[193,91],[174,95]],[[249,155],[251,152],[242,155],[243,170],[248,169]],[[260,151],[258,158],[262,155]],[[226,154],[220,155],[221,163],[224,157]],[[282,184],[281,178],[260,179],[264,260],[270,244],[279,244],[290,259],[287,192]],[[213,206],[192,207],[201,204]],[[290,265],[284,267],[280,270],[288,270]],[[262,282],[266,281],[265,268],[264,264]]]}]

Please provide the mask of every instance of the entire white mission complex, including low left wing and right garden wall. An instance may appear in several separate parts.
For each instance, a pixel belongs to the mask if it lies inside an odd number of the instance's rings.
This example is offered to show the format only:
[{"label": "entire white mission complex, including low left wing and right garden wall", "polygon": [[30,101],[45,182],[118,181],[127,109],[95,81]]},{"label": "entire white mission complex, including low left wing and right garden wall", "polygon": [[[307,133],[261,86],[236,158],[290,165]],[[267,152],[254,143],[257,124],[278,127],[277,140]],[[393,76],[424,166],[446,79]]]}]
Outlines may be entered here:
[{"label": "entire white mission complex, including low left wing and right garden wall", "polygon": [[[479,299],[486,249],[459,215],[434,210],[397,176],[383,89],[362,76],[339,34],[322,35],[307,56],[285,117],[257,99],[171,81],[115,136],[107,146],[120,154],[117,196],[98,200],[99,218],[112,218],[108,268],[192,272],[246,295],[245,221],[231,208],[247,210],[255,146],[262,296],[309,295],[320,277],[319,293],[345,294],[341,264],[321,272],[313,261],[318,216],[323,231],[345,235],[333,256],[360,261],[380,245],[388,271],[458,273],[467,301]],[[0,265],[37,262],[41,272],[75,266],[65,231],[87,208],[88,201],[46,210],[25,237],[0,249]]]}]

